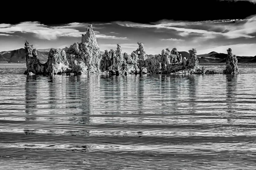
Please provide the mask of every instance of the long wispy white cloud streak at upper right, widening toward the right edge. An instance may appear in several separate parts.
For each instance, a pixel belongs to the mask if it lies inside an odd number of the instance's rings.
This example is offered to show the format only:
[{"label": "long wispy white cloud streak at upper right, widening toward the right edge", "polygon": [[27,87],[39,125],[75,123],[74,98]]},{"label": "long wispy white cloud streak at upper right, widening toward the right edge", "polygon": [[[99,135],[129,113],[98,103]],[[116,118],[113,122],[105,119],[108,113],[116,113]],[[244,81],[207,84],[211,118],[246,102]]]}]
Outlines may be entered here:
[{"label": "long wispy white cloud streak at upper right, widening toward the right edge", "polygon": [[209,20],[200,22],[161,20],[151,24],[133,22],[116,22],[116,24],[134,28],[156,28],[157,31],[159,29],[167,29],[176,31],[181,37],[197,34],[198,37],[201,36],[207,39],[219,36],[227,39],[254,38],[255,36],[251,34],[256,33],[256,15],[244,20]]}]

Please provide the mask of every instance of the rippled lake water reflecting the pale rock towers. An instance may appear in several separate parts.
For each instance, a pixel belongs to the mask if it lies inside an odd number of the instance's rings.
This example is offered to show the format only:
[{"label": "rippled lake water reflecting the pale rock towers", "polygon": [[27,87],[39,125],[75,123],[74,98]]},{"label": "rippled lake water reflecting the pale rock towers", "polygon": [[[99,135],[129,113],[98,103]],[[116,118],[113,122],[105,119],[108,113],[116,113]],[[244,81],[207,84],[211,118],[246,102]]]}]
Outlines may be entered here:
[{"label": "rippled lake water reflecting the pale rock towers", "polygon": [[51,78],[0,68],[0,169],[255,170],[256,65],[239,68]]}]

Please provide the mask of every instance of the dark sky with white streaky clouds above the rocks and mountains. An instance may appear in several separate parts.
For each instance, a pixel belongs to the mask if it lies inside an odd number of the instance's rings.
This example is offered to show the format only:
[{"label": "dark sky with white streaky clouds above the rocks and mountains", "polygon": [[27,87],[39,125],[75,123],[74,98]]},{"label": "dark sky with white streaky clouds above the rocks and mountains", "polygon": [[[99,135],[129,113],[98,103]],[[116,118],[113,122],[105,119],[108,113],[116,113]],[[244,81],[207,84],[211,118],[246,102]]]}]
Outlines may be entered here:
[{"label": "dark sky with white streaky clouds above the rocks and mountains", "polygon": [[24,48],[26,40],[37,49],[70,47],[81,42],[81,34],[92,24],[101,51],[121,44],[122,51],[131,54],[137,42],[143,42],[147,54],[161,54],[166,48],[197,48],[198,54],[232,48],[238,56],[256,55],[256,0],[101,5],[67,9],[51,4],[52,8],[40,6],[32,12],[27,7],[24,12],[24,4],[17,4],[12,8],[17,15],[0,18],[0,51]]}]

